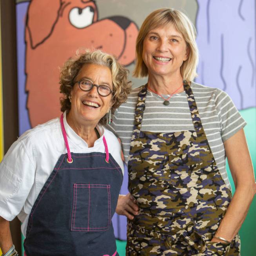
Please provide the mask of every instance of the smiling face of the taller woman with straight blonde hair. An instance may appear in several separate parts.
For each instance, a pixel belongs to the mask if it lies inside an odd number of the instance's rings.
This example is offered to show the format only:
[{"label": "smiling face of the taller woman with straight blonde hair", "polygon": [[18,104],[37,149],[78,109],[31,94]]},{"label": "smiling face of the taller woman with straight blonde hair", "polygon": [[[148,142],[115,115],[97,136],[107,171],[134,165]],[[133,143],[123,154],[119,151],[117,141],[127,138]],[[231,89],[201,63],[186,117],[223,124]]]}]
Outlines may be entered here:
[{"label": "smiling face of the taller woman with straight blonde hair", "polygon": [[188,54],[187,44],[173,24],[152,29],[143,41],[142,58],[149,76],[181,76],[180,67]]}]

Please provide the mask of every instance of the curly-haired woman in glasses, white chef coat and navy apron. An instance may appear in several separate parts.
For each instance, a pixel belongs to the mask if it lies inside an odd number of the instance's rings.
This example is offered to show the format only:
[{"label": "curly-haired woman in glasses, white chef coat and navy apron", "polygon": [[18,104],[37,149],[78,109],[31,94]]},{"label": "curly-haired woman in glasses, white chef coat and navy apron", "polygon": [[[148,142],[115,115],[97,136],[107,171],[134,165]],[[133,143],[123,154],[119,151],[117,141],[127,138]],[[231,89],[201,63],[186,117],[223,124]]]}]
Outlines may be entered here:
[{"label": "curly-haired woman in glasses, white chef coat and navy apron", "polygon": [[0,165],[0,247],[15,254],[9,221],[22,221],[27,256],[118,255],[111,218],[123,180],[120,143],[102,124],[127,99],[127,72],[101,51],[61,70],[63,114],[25,132]]}]

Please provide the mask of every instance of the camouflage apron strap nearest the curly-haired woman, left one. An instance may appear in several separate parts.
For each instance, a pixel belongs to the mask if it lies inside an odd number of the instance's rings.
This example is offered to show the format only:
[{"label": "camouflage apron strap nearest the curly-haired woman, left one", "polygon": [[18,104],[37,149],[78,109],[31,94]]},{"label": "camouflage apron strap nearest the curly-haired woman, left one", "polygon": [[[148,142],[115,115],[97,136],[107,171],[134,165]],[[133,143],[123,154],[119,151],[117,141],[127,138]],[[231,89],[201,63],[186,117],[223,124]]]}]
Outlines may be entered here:
[{"label": "camouflage apron strap nearest the curly-haired woman, left one", "polygon": [[138,93],[138,103],[135,109],[134,127],[132,141],[140,136],[140,129],[142,126],[143,111],[145,109],[145,100],[147,94],[147,84],[145,84]]}]

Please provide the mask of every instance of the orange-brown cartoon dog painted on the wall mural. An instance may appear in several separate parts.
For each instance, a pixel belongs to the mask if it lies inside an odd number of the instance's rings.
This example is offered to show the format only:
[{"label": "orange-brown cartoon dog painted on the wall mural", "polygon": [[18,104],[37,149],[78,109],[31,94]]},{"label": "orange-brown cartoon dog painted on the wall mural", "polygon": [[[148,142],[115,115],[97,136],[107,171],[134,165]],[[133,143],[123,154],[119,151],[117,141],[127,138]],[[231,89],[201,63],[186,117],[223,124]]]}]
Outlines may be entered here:
[{"label": "orange-brown cartoon dog painted on the wall mural", "polygon": [[138,27],[129,18],[98,20],[94,1],[31,0],[25,31],[31,126],[60,115],[59,67],[77,49],[100,49],[129,65],[134,62],[137,35]]}]

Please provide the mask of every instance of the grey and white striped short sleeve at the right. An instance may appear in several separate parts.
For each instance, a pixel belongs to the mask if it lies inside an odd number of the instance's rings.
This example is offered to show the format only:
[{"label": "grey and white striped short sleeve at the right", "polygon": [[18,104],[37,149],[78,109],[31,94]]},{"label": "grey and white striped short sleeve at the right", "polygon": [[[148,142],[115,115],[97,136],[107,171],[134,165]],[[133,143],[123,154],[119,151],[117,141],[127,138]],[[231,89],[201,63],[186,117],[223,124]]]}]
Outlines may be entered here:
[{"label": "grey and white striped short sleeve at the right", "polygon": [[245,127],[246,122],[238,112],[229,95],[220,89],[216,91],[215,105],[220,118],[222,140],[225,142]]}]

